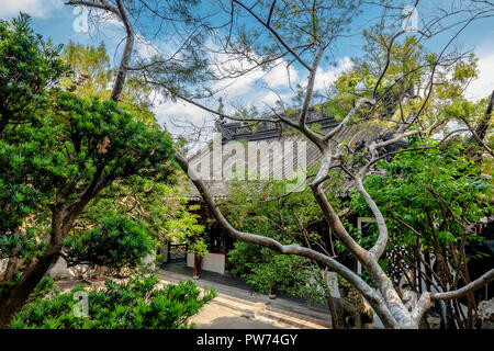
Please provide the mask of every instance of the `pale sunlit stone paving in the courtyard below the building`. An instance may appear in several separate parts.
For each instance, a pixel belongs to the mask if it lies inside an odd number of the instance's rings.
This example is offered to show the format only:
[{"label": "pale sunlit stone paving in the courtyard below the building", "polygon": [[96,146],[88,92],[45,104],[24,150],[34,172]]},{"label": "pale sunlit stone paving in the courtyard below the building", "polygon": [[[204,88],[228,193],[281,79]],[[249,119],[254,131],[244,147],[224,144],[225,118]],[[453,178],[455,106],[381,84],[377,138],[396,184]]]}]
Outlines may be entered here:
[{"label": "pale sunlit stone paving in the courtyard below the building", "polygon": [[[167,264],[158,274],[168,282],[187,281],[192,270],[184,264]],[[217,297],[191,318],[199,329],[327,329],[330,315],[324,305],[303,299],[255,295],[238,278],[201,272],[199,287],[212,287]]]}]

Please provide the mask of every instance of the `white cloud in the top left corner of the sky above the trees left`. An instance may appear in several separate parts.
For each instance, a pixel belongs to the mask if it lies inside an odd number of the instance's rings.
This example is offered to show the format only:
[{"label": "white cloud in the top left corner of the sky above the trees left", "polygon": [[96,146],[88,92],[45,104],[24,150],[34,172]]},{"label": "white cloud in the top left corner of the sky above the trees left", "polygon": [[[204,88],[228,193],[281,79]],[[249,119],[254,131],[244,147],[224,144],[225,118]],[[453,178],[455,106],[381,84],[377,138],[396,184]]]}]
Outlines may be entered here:
[{"label": "white cloud in the top left corner of the sky above the trees left", "polygon": [[63,0],[2,0],[0,4],[0,18],[10,19],[16,16],[20,11],[33,18],[46,18],[56,8],[64,5]]}]

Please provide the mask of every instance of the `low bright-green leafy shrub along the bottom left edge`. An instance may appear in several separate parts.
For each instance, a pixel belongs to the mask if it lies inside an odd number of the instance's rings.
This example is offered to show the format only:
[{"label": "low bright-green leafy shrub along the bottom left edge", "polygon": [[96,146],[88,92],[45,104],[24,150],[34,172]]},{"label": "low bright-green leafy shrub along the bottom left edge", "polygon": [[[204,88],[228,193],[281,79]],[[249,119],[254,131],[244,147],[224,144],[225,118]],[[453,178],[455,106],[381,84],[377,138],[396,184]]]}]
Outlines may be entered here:
[{"label": "low bright-green leafy shrub along the bottom left edge", "polygon": [[191,316],[209,301],[214,291],[201,291],[189,280],[177,285],[158,286],[157,276],[134,278],[115,283],[106,280],[105,287],[88,292],[88,317],[76,317],[77,298],[83,291],[76,286],[68,293],[58,291],[38,297],[19,312],[12,329],[177,329],[190,328]]}]

